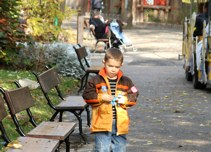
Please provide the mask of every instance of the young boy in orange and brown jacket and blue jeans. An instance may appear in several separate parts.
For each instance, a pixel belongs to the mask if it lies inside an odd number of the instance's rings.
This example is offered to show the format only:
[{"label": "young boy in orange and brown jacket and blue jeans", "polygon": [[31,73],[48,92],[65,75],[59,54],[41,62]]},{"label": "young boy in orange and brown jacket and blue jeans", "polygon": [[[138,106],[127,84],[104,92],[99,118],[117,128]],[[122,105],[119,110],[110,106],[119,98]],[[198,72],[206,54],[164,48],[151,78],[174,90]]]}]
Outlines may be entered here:
[{"label": "young boy in orange and brown jacket and blue jeans", "polygon": [[83,93],[83,98],[92,107],[94,152],[126,152],[127,107],[136,104],[138,90],[120,71],[122,63],[123,54],[119,49],[107,50],[104,68],[88,81]]}]

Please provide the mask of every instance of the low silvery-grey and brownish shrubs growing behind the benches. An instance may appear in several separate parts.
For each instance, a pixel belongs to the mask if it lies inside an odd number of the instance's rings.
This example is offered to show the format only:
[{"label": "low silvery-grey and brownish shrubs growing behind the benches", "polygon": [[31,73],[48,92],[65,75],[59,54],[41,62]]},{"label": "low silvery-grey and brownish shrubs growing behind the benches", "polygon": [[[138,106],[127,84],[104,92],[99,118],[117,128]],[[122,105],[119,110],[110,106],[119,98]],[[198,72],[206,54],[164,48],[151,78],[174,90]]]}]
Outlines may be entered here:
[{"label": "low silvery-grey and brownish shrubs growing behind the benches", "polygon": [[[18,56],[19,68],[42,71],[46,65],[55,66],[63,76],[80,79],[84,75],[73,46],[68,43],[22,44]],[[88,50],[87,50],[88,51]],[[89,51],[88,51],[89,52]]]}]

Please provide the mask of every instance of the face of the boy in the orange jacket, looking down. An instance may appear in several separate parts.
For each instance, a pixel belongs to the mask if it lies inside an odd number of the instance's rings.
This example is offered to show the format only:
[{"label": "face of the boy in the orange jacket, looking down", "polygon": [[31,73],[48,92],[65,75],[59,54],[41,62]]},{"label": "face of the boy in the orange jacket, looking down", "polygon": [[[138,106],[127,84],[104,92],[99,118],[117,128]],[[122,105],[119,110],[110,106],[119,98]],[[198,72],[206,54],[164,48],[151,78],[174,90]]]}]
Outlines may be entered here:
[{"label": "face of the boy in the orange jacket, looking down", "polygon": [[119,72],[122,63],[121,61],[115,60],[115,59],[109,59],[108,61],[103,61],[107,77],[110,79],[116,79],[117,73]]}]

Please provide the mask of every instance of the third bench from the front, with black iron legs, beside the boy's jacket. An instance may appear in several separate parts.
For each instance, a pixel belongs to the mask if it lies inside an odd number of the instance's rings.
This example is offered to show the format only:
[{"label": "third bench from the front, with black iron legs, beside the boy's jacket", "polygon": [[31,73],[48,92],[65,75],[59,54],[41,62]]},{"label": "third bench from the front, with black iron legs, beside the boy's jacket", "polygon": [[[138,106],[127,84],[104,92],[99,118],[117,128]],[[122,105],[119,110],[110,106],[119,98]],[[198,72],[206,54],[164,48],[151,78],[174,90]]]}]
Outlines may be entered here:
[{"label": "third bench from the front, with black iron legs, beside the boy's jacket", "polygon": [[[84,110],[87,112],[87,125],[90,126],[90,110],[88,104],[83,100],[82,96],[74,96],[68,95],[63,96],[61,90],[59,89],[59,84],[61,84],[61,79],[56,71],[56,69],[50,68],[40,74],[34,72],[34,75],[37,78],[38,83],[40,84],[40,88],[48,102],[48,105],[55,110],[55,113],[51,117],[51,121],[53,121],[56,116],[59,114],[59,121],[62,121],[64,112],[71,112],[75,115],[79,124],[79,133],[84,140],[87,142],[83,135],[82,128],[82,117],[81,114]],[[58,97],[58,104],[53,104],[51,92],[56,91],[57,95],[54,97]]]}]

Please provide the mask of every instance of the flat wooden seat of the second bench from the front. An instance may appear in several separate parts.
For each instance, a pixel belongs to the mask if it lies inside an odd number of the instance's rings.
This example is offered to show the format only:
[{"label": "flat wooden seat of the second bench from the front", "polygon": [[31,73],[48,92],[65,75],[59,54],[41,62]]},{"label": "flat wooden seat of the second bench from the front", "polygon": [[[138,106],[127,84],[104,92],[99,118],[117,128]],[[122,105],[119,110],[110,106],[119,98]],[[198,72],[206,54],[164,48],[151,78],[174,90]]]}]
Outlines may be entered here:
[{"label": "flat wooden seat of the second bench from the front", "polygon": [[74,130],[74,122],[42,122],[26,134],[28,137],[65,140]]}]

